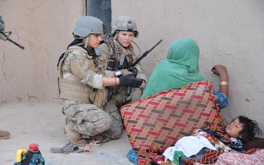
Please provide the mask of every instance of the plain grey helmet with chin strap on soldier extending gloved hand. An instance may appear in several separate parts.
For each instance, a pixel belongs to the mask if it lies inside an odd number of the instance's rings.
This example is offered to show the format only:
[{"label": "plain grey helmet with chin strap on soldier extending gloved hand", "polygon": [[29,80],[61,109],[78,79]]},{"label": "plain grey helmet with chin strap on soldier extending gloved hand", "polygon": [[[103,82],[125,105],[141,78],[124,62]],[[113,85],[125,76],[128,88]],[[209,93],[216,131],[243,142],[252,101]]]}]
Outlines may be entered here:
[{"label": "plain grey helmet with chin strap on soldier extending gloved hand", "polygon": [[73,31],[73,37],[75,39],[84,39],[86,38],[84,47],[87,47],[87,43],[91,34],[105,34],[106,26],[105,24],[98,18],[91,16],[81,17]]}]

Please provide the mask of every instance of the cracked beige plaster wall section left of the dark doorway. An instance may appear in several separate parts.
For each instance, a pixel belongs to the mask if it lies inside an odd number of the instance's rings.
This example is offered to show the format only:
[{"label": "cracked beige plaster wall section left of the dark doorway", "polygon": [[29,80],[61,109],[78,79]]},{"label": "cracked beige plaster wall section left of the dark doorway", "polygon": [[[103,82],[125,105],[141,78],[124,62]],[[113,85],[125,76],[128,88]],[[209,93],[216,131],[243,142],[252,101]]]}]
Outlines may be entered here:
[{"label": "cracked beige plaster wall section left of the dark doorway", "polygon": [[57,100],[57,61],[85,13],[85,0],[0,0],[6,31],[25,47],[0,41],[0,105]]}]

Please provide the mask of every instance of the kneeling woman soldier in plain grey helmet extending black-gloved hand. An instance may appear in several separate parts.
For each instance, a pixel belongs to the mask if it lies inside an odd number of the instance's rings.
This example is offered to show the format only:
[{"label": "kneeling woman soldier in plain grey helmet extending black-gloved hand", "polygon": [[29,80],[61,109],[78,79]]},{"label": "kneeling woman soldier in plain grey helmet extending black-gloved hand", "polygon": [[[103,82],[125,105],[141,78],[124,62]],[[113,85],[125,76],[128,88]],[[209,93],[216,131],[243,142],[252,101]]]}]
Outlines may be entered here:
[{"label": "kneeling woman soldier in plain grey helmet extending black-gloved hand", "polygon": [[[142,79],[133,78],[134,74],[120,78],[107,78],[98,66],[97,48],[106,32],[100,19],[90,16],[80,18],[75,26],[75,40],[59,59],[59,94],[64,99],[62,112],[68,118],[64,127],[69,140],[78,146],[85,146],[82,135],[116,139],[121,134],[120,123],[115,112],[107,112],[108,89],[106,86],[122,85],[139,87]],[[119,114],[118,114],[119,115]],[[120,116],[120,115],[119,115]]]}]

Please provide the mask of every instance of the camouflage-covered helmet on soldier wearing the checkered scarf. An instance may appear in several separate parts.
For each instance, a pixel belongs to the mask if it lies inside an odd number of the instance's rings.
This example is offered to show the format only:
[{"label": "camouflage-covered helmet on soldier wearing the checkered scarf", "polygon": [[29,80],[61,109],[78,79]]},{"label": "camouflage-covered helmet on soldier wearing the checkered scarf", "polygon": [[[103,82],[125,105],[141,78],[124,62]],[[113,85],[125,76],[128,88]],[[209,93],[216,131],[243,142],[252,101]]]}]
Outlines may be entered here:
[{"label": "camouflage-covered helmet on soldier wearing the checkered scarf", "polygon": [[112,26],[111,35],[117,36],[118,31],[133,31],[136,38],[139,35],[136,21],[129,16],[120,16],[115,19],[115,23]]}]

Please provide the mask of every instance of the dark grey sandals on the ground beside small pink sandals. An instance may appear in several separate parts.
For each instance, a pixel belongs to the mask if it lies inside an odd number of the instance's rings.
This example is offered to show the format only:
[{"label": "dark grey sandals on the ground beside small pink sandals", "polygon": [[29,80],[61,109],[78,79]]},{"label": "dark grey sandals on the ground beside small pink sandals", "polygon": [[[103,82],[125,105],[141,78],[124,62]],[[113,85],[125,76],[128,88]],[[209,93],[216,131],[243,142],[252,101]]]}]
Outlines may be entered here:
[{"label": "dark grey sandals on the ground beside small pink sandals", "polygon": [[81,153],[83,149],[80,149],[77,145],[68,143],[62,148],[59,147],[52,147],[50,148],[50,151],[53,153],[63,153],[63,154],[69,154],[69,153]]}]

